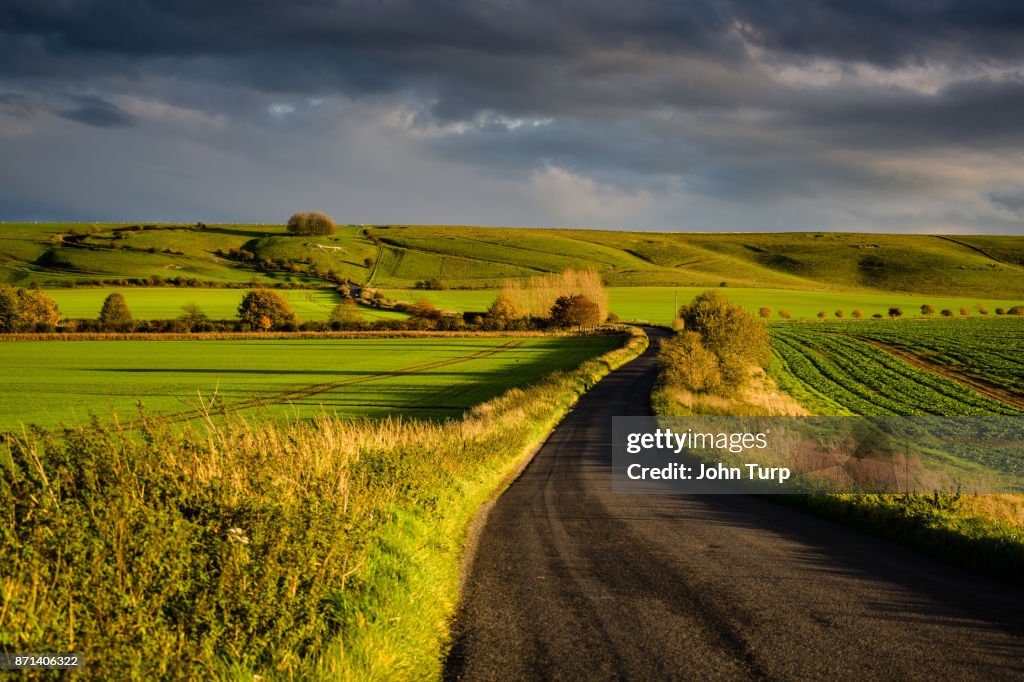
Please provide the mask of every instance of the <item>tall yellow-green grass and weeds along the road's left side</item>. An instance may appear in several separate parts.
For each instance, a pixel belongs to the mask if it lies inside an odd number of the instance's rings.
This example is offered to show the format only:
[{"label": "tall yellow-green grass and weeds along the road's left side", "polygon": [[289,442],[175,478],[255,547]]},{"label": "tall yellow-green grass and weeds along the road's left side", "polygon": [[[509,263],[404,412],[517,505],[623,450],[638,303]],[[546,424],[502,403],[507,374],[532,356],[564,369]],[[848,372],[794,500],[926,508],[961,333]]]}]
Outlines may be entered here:
[{"label": "tall yellow-green grass and weeds along the road's left side", "polygon": [[93,679],[437,677],[469,519],[646,343],[440,424],[8,437],[0,648],[79,652]]}]

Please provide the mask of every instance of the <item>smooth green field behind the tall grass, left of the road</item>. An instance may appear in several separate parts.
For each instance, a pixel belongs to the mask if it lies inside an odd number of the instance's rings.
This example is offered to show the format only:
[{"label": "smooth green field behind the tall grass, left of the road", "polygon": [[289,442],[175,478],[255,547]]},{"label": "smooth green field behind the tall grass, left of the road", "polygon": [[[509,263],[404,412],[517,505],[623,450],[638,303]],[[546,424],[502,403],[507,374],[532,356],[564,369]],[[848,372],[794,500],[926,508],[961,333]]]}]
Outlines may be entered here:
[{"label": "smooth green field behind the tall grass, left of the road", "polygon": [[[0,344],[0,429],[95,414],[228,411],[438,419],[621,344],[618,337],[26,341]],[[243,412],[243,414],[250,414]]]}]

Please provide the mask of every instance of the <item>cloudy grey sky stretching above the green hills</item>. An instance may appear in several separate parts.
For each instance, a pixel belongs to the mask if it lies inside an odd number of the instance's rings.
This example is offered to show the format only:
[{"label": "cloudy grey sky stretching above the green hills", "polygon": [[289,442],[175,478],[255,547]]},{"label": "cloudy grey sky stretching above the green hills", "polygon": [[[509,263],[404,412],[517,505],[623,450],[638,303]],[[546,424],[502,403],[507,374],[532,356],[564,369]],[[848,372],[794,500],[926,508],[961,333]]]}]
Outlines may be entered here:
[{"label": "cloudy grey sky stretching above the green hills", "polygon": [[3,0],[0,220],[1024,233],[1024,4]]}]

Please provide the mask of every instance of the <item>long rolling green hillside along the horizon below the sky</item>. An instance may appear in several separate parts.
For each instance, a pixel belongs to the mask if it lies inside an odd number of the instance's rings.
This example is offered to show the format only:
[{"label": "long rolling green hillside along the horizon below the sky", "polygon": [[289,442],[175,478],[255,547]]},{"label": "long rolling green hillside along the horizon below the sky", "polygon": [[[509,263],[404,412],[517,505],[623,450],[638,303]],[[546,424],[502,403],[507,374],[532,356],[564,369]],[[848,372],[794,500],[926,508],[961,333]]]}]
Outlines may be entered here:
[{"label": "long rolling green hillside along the horizon below the sky", "polygon": [[388,288],[437,278],[451,288],[484,289],[507,278],[596,267],[618,287],[725,282],[987,298],[1024,290],[1019,237],[432,225],[342,226],[328,238],[292,237],[280,225],[8,223],[0,229],[0,282],[44,287],[154,276],[242,284],[258,276],[300,286],[344,278]]}]

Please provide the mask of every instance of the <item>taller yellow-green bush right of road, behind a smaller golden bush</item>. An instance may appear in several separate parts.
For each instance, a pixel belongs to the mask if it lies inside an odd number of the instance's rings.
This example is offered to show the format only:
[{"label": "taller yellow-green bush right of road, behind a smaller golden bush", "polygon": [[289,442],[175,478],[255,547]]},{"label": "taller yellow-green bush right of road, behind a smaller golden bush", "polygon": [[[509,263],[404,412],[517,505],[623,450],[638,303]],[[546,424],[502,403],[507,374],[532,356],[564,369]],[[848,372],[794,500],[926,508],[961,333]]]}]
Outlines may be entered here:
[{"label": "taller yellow-green bush right of road, behind a smaller golden bush", "polygon": [[718,357],[725,390],[746,383],[751,367],[767,367],[771,346],[765,324],[717,291],[700,294],[679,309],[685,329],[700,335]]}]

